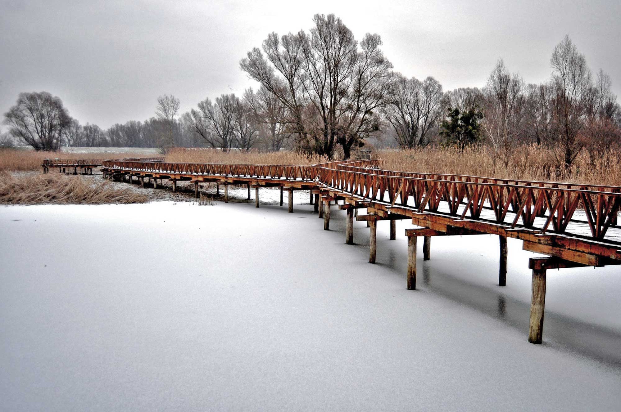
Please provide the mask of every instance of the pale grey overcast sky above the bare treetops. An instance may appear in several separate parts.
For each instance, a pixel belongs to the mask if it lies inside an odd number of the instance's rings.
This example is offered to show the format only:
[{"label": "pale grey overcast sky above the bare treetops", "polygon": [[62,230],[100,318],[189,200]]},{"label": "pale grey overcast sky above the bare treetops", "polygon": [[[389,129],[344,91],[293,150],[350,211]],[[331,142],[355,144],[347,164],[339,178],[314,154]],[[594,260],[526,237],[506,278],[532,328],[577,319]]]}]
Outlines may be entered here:
[{"label": "pale grey overcast sky above the bare treetops", "polygon": [[361,39],[381,35],[406,76],[445,90],[481,87],[499,57],[528,83],[550,76],[569,34],[621,94],[621,1],[21,1],[0,0],[0,112],[19,92],[59,96],[71,116],[107,128],[154,115],[172,93],[183,111],[256,86],[239,61],[270,32],[309,30],[334,13]]}]

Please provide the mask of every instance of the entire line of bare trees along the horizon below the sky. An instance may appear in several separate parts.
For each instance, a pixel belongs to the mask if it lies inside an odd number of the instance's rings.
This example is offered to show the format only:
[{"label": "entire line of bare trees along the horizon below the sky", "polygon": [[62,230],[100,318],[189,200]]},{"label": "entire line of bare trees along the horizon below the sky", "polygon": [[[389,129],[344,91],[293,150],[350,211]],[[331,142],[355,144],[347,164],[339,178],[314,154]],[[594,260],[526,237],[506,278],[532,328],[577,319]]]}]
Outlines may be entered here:
[{"label": "entire line of bare trees along the horizon below the sky", "polygon": [[527,84],[498,60],[480,89],[443,91],[435,78],[393,70],[377,34],[360,42],[330,14],[309,32],[271,33],[240,61],[258,88],[242,96],[207,97],[179,114],[179,100],[160,96],[156,117],[107,130],[79,125],[58,97],[20,94],[5,114],[12,136],[37,150],[71,146],[173,146],[281,150],[348,159],[369,138],[411,149],[481,144],[505,166],[517,147],[545,145],[571,168],[586,149],[592,162],[621,144],[621,108],[610,76],[593,74],[569,37],[554,48],[551,76]]}]

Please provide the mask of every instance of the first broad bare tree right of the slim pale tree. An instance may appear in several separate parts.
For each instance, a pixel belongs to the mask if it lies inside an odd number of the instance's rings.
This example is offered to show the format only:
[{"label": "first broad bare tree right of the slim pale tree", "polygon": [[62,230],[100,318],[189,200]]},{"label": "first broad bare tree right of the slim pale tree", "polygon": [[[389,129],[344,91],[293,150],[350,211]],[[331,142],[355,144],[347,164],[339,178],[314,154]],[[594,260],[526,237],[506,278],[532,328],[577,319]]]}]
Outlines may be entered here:
[{"label": "first broad bare tree right of the slim pale tree", "polygon": [[190,111],[190,128],[212,148],[230,150],[236,143],[238,103],[235,94],[222,94],[215,98],[215,102],[207,97],[198,104],[198,110]]}]

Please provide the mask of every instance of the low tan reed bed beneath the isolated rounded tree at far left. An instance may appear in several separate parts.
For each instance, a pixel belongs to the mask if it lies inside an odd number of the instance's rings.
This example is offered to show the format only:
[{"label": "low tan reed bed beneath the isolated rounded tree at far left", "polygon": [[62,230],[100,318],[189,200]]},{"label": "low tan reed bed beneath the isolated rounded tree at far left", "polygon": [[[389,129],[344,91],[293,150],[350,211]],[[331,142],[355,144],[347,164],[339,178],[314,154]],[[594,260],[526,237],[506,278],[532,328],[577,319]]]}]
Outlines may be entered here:
[{"label": "low tan reed bed beneath the isolated rounded tree at far left", "polygon": [[140,151],[109,153],[56,153],[49,151],[0,149],[0,171],[32,171],[41,170],[43,159],[122,159],[152,157]]}]

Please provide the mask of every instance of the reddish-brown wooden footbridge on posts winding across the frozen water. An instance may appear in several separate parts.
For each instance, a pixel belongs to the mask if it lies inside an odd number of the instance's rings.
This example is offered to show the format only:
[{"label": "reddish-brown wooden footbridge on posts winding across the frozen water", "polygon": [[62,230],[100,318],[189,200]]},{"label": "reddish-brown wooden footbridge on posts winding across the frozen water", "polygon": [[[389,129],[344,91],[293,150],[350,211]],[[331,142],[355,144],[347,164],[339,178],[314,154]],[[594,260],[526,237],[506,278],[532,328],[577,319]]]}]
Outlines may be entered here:
[{"label": "reddish-brown wooden footbridge on posts winding across the frozen water", "polygon": [[[353,243],[353,219],[369,227],[369,262],[375,262],[376,225],[388,220],[391,240],[396,237],[395,220],[411,220],[418,228],[407,229],[407,289],[416,289],[417,238],[424,238],[424,259],[430,258],[433,236],[499,236],[499,286],[506,284],[507,238],[523,241],[528,251],[547,255],[531,258],[532,299],[528,341],[542,342],[546,270],[564,267],[605,266],[621,263],[621,226],[617,213],[621,187],[558,182],[493,179],[453,174],[423,174],[388,171],[381,161],[335,161],[314,166],[266,164],[166,163],[163,159],[120,159],[102,161],[104,176],[111,179],[145,178],[158,187],[157,179],[199,185],[215,182],[255,188],[259,207],[260,187],[280,187],[289,192],[293,212],[293,191],[311,190],[315,212],[330,228],[331,205],[347,211],[345,243]],[[314,198],[313,198],[314,196]],[[358,215],[357,209],[366,209]],[[356,216],[355,216],[356,215]]]}]

